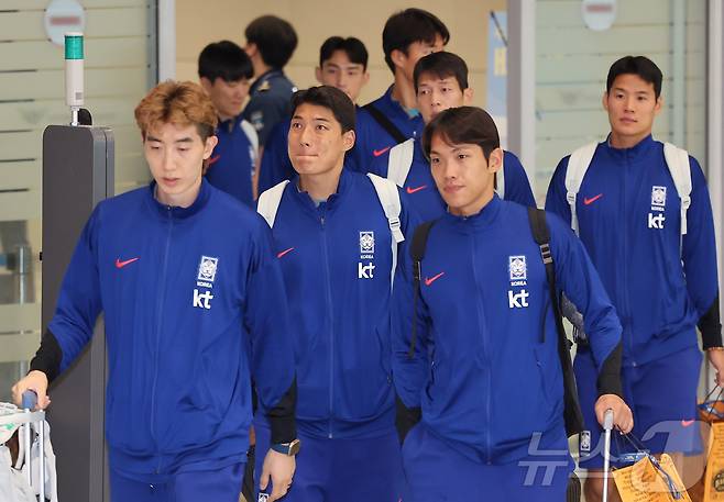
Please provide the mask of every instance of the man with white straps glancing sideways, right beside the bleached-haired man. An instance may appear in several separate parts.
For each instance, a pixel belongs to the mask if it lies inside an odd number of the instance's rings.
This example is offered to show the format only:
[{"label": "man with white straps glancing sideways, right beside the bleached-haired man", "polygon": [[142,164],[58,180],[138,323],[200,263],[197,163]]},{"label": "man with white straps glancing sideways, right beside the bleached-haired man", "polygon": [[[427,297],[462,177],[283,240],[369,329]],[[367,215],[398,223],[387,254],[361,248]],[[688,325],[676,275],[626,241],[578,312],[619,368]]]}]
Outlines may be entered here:
[{"label": "man with white straps glancing sideways, right beside the bleached-haired man", "polygon": [[[293,108],[288,144],[298,177],[259,199],[296,325],[304,451],[285,500],[397,502],[404,476],[390,297],[402,239],[416,222],[394,183],[344,167],[354,144],[347,94],[316,87],[297,93]],[[255,427],[257,444],[268,442],[266,420]]]}]

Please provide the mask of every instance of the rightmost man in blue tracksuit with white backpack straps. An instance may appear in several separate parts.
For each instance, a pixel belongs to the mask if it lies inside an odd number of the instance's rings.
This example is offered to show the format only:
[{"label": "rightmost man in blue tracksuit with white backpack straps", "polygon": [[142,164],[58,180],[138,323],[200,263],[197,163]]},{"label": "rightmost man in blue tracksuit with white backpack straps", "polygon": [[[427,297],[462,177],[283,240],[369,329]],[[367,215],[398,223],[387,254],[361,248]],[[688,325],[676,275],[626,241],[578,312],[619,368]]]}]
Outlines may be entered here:
[{"label": "rightmost man in blue tracksuit with white backpack straps", "polygon": [[[621,316],[624,393],[636,419],[634,434],[655,454],[692,451],[700,443],[696,327],[717,382],[724,382],[709,190],[695,158],[651,137],[661,80],[659,68],[643,56],[612,65],[603,94],[611,134],[560,161],[546,200],[547,210],[578,230]],[[590,446],[581,448],[581,466],[600,469],[595,376],[585,347],[575,371],[590,430],[590,440],[581,442]],[[586,499],[601,500],[602,491],[601,478],[589,478]]]}]

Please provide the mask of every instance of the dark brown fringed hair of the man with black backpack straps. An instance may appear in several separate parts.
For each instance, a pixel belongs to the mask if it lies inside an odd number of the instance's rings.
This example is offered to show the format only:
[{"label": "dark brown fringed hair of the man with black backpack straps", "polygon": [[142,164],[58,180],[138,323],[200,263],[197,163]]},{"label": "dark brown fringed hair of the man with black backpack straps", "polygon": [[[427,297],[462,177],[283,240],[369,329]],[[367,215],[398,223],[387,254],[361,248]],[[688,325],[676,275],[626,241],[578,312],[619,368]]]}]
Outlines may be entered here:
[{"label": "dark brown fringed hair of the man with black backpack straps", "polygon": [[427,124],[423,133],[423,150],[428,159],[435,135],[449,145],[478,145],[483,149],[486,160],[495,148],[501,147],[501,137],[493,118],[476,107],[450,108]]}]

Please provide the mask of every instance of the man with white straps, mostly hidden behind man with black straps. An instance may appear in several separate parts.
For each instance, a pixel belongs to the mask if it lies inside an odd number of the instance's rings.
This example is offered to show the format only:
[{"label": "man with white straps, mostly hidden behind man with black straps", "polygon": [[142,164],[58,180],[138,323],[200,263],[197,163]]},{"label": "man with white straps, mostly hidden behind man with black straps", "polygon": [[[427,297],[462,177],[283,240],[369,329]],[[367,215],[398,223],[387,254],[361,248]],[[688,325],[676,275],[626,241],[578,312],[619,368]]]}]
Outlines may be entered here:
[{"label": "man with white straps, mostly hidden behind man with black straps", "polygon": [[[417,108],[426,124],[438,113],[472,101],[473,90],[468,86],[468,65],[452,53],[432,53],[418,60],[414,82]],[[441,216],[447,205],[435,187],[420,140],[415,137],[393,146],[374,159],[370,172],[390,178],[403,187],[415,211],[424,221],[429,221]],[[536,207],[525,169],[518,157],[511,152],[504,152],[503,169],[496,175],[495,192],[503,200]]]}]

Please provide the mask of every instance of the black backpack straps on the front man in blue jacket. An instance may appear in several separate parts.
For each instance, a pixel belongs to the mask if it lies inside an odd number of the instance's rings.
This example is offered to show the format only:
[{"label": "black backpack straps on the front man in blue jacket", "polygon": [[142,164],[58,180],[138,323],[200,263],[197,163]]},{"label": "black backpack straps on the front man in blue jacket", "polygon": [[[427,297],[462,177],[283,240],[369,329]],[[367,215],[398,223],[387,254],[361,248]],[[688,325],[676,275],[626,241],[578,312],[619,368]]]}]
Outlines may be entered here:
[{"label": "black backpack straps on the front man in blue jacket", "polygon": [[[571,342],[566,335],[563,328],[563,321],[560,309],[560,298],[556,287],[556,267],[553,265],[553,256],[550,252],[550,232],[546,223],[546,212],[536,208],[528,208],[528,221],[530,223],[530,231],[536,244],[540,247],[540,257],[546,267],[546,279],[548,281],[548,291],[552,303],[553,315],[556,317],[556,331],[558,334],[558,355],[561,361],[561,369],[563,371],[563,416],[566,420],[566,432],[569,436],[579,434],[584,430],[583,414],[581,412],[581,404],[578,399],[578,390],[575,387],[575,376],[573,375],[573,365],[571,364]],[[410,245],[410,255],[413,257],[413,336],[409,344],[408,356],[412,358],[415,354],[415,342],[417,338],[417,301],[420,294],[420,280],[423,259],[425,258],[425,249],[427,247],[427,237],[430,230],[435,225],[436,220],[425,222],[415,228],[413,235],[413,243]],[[541,333],[545,339],[546,336],[546,316],[542,316]]]}]

